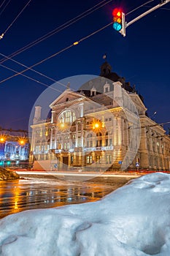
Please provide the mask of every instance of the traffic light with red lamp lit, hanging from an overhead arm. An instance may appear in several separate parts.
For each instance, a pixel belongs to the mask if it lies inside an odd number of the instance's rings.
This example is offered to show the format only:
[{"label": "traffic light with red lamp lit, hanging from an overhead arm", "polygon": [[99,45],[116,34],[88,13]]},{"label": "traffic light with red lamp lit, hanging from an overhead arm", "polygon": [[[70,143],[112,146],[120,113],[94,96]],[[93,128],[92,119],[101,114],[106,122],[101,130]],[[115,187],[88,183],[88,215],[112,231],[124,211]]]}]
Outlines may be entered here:
[{"label": "traffic light with red lamp lit, hanging from an overhead arm", "polygon": [[122,10],[115,8],[112,11],[113,29],[120,32],[125,37],[125,13]]}]

